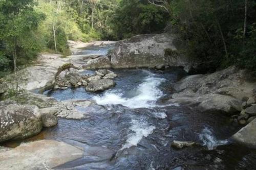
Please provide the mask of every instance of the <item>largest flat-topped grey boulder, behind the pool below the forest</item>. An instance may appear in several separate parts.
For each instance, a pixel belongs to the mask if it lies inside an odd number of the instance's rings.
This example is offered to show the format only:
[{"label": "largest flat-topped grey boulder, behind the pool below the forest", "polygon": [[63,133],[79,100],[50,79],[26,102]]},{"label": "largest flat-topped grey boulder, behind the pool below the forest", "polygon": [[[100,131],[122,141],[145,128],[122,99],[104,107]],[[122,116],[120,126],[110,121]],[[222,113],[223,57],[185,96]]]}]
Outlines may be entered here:
[{"label": "largest flat-topped grey boulder, behind the pool below the forest", "polygon": [[113,68],[156,67],[160,64],[187,67],[193,65],[178,54],[176,35],[146,34],[119,41],[111,53]]}]

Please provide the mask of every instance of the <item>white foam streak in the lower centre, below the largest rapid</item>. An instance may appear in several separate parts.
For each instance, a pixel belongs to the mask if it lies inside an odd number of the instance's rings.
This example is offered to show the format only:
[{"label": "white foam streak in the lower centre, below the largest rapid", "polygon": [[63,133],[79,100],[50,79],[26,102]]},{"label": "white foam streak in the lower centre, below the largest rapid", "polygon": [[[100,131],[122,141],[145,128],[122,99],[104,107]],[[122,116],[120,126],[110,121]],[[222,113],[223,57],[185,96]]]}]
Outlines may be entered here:
[{"label": "white foam streak in the lower centre, below the largest rapid", "polygon": [[156,127],[148,126],[146,122],[132,120],[132,126],[130,127],[130,129],[135,133],[129,134],[125,144],[123,144],[120,151],[131,148],[133,146],[137,146],[141,139],[152,134]]}]

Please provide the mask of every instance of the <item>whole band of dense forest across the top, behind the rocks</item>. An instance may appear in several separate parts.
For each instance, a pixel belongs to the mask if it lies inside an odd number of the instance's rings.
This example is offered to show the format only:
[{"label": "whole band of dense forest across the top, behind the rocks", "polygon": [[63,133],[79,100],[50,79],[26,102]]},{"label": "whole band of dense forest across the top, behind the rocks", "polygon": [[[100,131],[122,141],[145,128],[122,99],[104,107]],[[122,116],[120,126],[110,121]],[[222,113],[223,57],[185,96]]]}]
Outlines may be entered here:
[{"label": "whole band of dense forest across the top, behind the rocks", "polygon": [[39,52],[69,55],[68,39],[164,31],[180,35],[180,53],[207,70],[236,64],[255,71],[255,11],[253,0],[0,0],[0,77]]}]

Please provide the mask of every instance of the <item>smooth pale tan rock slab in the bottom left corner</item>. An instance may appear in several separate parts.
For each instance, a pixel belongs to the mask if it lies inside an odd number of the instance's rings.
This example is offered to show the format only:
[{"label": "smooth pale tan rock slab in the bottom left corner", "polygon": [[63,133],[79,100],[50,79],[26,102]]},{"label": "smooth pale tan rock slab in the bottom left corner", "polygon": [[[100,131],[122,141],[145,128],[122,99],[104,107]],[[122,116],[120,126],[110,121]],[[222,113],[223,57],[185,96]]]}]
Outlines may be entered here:
[{"label": "smooth pale tan rock slab in the bottom left corner", "polygon": [[9,169],[52,169],[81,158],[83,150],[55,140],[23,143],[10,151],[0,153],[0,167]]}]

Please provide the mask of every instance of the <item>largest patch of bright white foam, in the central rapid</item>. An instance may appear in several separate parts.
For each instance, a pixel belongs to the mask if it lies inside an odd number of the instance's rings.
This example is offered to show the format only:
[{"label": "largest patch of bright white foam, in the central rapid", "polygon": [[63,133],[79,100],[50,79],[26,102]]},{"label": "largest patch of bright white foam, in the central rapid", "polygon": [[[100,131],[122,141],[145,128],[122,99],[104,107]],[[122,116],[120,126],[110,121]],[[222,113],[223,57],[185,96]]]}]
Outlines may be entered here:
[{"label": "largest patch of bright white foam, in the central rapid", "polygon": [[122,93],[106,92],[103,96],[95,96],[93,99],[98,105],[123,105],[129,108],[156,107],[156,101],[161,98],[163,92],[158,86],[164,82],[163,78],[156,78],[154,74],[146,77],[144,82],[136,89],[138,95],[133,98],[123,98]]}]

